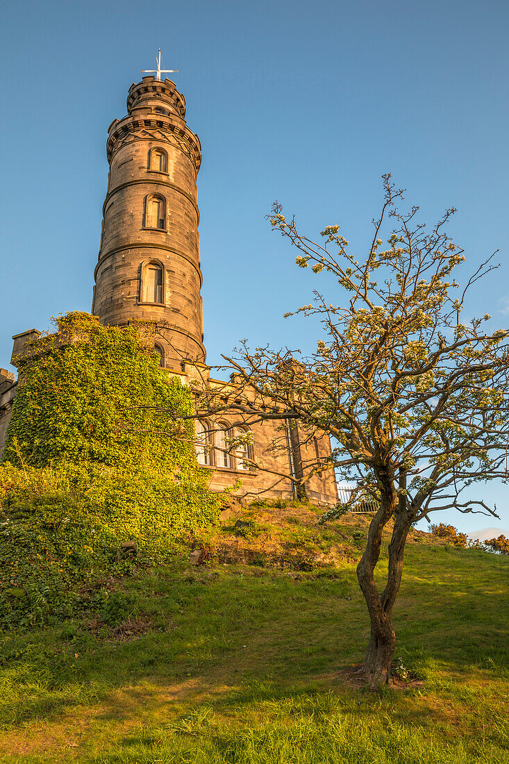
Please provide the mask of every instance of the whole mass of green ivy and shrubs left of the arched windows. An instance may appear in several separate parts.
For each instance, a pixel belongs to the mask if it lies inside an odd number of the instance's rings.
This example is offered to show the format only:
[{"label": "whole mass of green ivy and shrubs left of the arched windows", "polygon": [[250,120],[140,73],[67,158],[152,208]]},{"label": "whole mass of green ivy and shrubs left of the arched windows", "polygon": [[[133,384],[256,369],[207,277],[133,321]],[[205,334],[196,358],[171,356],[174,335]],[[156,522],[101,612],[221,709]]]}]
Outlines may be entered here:
[{"label": "whole mass of green ivy and shrubs left of the arched windows", "polygon": [[[0,465],[0,623],[28,626],[86,607],[84,582],[164,562],[216,520],[196,462],[190,391],[134,328],[58,319],[20,361]],[[144,408],[142,406],[150,406]],[[118,548],[135,541],[136,558]]]}]

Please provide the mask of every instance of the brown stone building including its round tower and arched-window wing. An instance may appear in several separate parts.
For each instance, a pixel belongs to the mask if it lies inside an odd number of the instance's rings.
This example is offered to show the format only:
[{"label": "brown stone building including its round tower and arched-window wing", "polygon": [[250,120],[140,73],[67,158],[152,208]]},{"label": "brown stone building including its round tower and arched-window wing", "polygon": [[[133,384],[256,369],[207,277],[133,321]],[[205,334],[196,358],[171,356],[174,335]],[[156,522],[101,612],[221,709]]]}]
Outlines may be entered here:
[{"label": "brown stone building including its round tower and arched-window wing", "polygon": [[[222,393],[235,394],[234,382],[210,378],[206,365],[196,195],[201,146],[186,125],[185,99],[170,79],[163,81],[157,73],[131,86],[127,112],[109,126],[109,176],[92,313],[110,325],[146,322],[168,374],[178,375],[184,384],[205,379]],[[34,331],[16,336],[16,352]],[[0,395],[2,385],[7,385],[5,395],[11,401],[13,380],[0,384]],[[0,438],[8,406],[0,419]],[[241,481],[235,493],[246,499],[292,497],[296,484],[291,476],[297,480],[306,461],[330,455],[328,438],[306,442],[295,426],[287,425],[285,431],[272,422],[253,426],[252,442],[229,451],[229,437],[242,429],[238,417],[235,422],[222,416],[196,423],[197,455],[211,470],[212,490]],[[275,442],[280,443],[277,448]],[[267,471],[249,467],[245,459]],[[306,494],[325,505],[336,503],[333,471],[316,474],[306,484]]]}]

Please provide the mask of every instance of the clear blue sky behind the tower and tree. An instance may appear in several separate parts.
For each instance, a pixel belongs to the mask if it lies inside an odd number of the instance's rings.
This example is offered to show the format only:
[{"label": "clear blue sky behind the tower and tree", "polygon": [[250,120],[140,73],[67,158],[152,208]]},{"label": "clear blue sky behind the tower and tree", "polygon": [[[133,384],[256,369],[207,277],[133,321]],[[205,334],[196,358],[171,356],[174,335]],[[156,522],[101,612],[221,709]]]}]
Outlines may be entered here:
[{"label": "clear blue sky behind the tower and tree", "polygon": [[[205,342],[311,349],[316,325],[283,313],[316,283],[264,215],[278,199],[311,238],[339,223],[361,251],[382,173],[423,222],[457,206],[465,273],[501,269],[468,306],[507,325],[509,4],[502,0],[21,2],[0,31],[3,183],[0,365],[11,335],[89,310],[105,196],[106,129],[157,48],[199,135]],[[334,301],[333,290],[328,293]],[[462,529],[509,529],[449,514]]]}]

